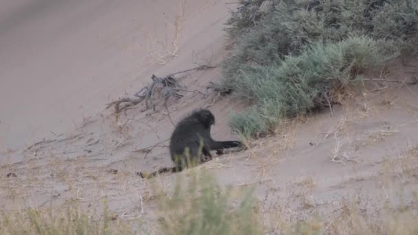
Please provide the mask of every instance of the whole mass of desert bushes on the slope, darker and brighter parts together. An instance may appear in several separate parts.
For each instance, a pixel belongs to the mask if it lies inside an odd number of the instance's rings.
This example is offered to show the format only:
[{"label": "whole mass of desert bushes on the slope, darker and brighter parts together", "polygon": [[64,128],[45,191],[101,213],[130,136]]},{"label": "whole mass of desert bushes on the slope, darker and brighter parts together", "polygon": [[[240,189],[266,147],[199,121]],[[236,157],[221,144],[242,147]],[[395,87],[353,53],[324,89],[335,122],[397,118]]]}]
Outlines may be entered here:
[{"label": "whole mass of desert bushes on the slope, darker and brighter parts together", "polygon": [[[232,90],[236,98],[256,104],[231,120],[235,131],[246,135],[254,135],[255,130],[269,131],[277,117],[322,104],[330,89],[338,86],[336,80],[348,85],[352,80],[348,78],[358,74],[360,68],[380,64],[373,60],[376,56],[396,56],[402,47],[418,41],[417,1],[274,2],[274,9],[250,25],[250,30],[241,30],[241,36],[235,36],[236,45],[222,64],[223,90]],[[230,21],[238,19],[232,17]],[[234,27],[246,26],[236,23]],[[353,52],[338,52],[347,49],[344,43],[348,46],[354,41],[372,44],[355,44]],[[386,49],[385,54],[362,53],[362,49],[369,52],[377,46]]]}]

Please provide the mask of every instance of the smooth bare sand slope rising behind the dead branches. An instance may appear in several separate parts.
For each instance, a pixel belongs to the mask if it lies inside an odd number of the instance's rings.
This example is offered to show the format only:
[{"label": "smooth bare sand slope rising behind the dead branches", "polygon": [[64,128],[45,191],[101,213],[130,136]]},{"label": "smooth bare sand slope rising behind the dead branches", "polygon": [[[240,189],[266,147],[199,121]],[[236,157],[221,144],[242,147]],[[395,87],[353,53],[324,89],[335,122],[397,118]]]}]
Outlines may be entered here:
[{"label": "smooth bare sand slope rising behind the dead branches", "polygon": [[[228,12],[223,3],[1,3],[0,144],[15,148],[72,130],[83,117],[102,111],[107,101],[148,82],[151,73],[192,66],[191,51],[221,37]],[[173,51],[176,16],[179,58],[163,69],[150,52],[165,54],[159,41]]]}]

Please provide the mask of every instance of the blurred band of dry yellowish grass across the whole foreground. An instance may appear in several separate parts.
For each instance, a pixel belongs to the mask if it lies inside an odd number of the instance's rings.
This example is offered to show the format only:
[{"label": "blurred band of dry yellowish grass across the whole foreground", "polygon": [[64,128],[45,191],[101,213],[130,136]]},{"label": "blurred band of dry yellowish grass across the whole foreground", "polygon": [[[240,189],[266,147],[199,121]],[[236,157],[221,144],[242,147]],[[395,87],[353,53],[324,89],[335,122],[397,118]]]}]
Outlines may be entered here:
[{"label": "blurred band of dry yellowish grass across the whole foreground", "polygon": [[[292,195],[286,201],[276,198],[275,190],[266,201],[253,197],[254,186],[223,188],[210,175],[192,170],[190,177],[179,175],[173,189],[153,183],[153,197],[158,202],[157,227],[141,227],[140,216],[115,214],[100,200],[100,211],[82,209],[78,200],[67,201],[61,208],[2,210],[1,234],[416,234],[418,227],[418,191],[399,191],[404,199],[393,201],[388,190],[401,179],[417,182],[418,150],[411,148],[404,156],[388,160],[381,170],[379,199],[365,199],[358,190],[340,201],[320,204],[313,197],[316,183],[310,177],[294,181]],[[408,192],[407,192],[408,191]],[[271,195],[270,195],[271,194]],[[272,204],[273,203],[273,204]],[[298,210],[292,210],[292,203]],[[331,207],[322,214],[321,208]],[[157,232],[159,230],[160,232]]]}]

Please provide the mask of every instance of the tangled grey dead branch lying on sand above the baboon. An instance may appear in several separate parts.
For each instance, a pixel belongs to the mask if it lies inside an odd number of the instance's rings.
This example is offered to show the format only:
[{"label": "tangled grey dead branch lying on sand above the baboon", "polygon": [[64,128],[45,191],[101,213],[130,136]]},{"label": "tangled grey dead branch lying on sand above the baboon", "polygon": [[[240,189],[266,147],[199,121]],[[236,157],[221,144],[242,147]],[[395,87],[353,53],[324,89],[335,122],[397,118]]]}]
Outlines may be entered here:
[{"label": "tangled grey dead branch lying on sand above the baboon", "polygon": [[[214,67],[208,66],[208,65],[201,65],[192,69],[186,69],[183,71],[178,71],[174,74],[168,74],[165,77],[157,77],[153,74],[151,76],[151,84],[146,85],[144,88],[140,89],[140,91],[137,91],[133,94],[136,98],[121,98],[119,100],[115,100],[113,102],[110,102],[107,104],[106,109],[109,109],[109,107],[114,106],[115,107],[115,113],[120,113],[123,110],[126,110],[129,107],[132,107],[136,104],[140,104],[141,102],[145,101],[145,110],[148,110],[150,107],[150,102],[152,106],[155,109],[155,105],[153,104],[153,100],[157,99],[164,99],[164,105],[166,104],[166,101],[169,98],[182,98],[184,95],[181,95],[180,91],[185,92],[198,92],[201,93],[201,91],[193,90],[188,91],[186,87],[180,85],[180,83],[177,81],[177,78],[174,76],[177,74],[186,73],[188,71],[198,71],[198,70],[204,70],[204,69],[212,69]],[[203,93],[201,93],[203,94]],[[122,103],[126,103],[123,106],[121,106]]]}]

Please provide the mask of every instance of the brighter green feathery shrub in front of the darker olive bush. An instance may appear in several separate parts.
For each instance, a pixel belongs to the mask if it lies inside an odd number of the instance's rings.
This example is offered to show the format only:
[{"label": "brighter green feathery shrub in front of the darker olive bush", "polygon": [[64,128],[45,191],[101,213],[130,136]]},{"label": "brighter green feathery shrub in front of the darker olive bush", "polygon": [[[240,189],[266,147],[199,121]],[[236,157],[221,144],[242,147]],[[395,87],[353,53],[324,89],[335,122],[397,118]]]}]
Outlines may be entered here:
[{"label": "brighter green feathery shrub in front of the darker olive bush", "polygon": [[382,64],[388,45],[366,36],[354,36],[340,43],[316,43],[299,56],[287,56],[278,65],[254,67],[243,73],[236,91],[249,94],[256,105],[234,113],[234,131],[250,137],[272,131],[280,118],[333,102],[333,91],[355,82],[364,69]]}]

